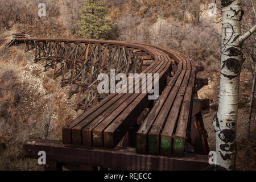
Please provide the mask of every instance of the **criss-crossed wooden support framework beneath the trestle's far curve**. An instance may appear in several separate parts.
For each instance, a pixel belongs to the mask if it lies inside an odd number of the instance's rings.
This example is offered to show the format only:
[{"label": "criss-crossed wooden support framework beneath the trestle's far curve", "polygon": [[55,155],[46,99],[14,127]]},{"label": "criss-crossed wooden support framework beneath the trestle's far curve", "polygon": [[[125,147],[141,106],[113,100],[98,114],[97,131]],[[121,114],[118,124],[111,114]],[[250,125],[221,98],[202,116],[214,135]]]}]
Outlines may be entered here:
[{"label": "criss-crossed wooden support framework beneath the trestle's far curve", "polygon": [[35,49],[35,62],[45,61],[44,71],[53,69],[52,78],[61,76],[61,86],[69,86],[69,98],[78,94],[76,110],[86,110],[97,102],[100,73],[109,75],[110,69],[115,69],[115,74],[140,73],[143,61],[151,60],[139,49],[109,43],[28,39],[25,52],[31,49]]}]

